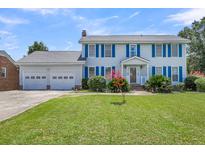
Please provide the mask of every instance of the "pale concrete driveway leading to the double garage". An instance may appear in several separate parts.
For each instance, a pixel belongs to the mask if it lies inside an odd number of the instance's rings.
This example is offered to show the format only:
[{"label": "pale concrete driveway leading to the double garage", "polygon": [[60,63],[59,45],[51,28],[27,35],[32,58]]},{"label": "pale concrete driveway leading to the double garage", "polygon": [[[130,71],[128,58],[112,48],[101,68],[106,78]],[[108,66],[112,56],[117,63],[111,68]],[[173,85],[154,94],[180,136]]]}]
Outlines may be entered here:
[{"label": "pale concrete driveway leading to the double garage", "polygon": [[0,121],[24,112],[69,91],[4,91],[0,92]]}]

